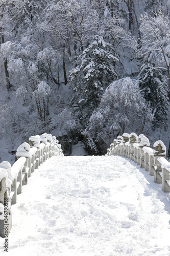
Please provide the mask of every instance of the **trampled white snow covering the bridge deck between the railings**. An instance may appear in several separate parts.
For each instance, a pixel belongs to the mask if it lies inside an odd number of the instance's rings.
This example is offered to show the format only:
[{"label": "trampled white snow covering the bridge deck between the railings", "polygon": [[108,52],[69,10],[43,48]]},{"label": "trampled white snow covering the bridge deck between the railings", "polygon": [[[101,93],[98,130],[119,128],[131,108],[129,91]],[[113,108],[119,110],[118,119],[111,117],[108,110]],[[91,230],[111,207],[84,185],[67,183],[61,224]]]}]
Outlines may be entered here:
[{"label": "trampled white snow covering the bridge deck between the railings", "polygon": [[169,199],[125,158],[53,157],[12,206],[8,255],[169,256]]}]

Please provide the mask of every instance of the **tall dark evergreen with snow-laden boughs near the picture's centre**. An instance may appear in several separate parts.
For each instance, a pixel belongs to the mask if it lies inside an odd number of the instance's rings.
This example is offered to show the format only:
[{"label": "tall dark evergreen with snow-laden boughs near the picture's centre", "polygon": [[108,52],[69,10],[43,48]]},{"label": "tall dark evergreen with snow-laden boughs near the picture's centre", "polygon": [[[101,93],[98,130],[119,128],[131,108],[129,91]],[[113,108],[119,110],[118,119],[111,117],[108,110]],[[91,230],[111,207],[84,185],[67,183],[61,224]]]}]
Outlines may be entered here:
[{"label": "tall dark evergreen with snow-laden boughs near the picture's centre", "polygon": [[102,36],[96,37],[83,51],[80,64],[70,73],[70,82],[76,82],[72,104],[78,104],[86,114],[92,113],[109,83],[117,79],[114,67],[118,61],[110,44]]}]

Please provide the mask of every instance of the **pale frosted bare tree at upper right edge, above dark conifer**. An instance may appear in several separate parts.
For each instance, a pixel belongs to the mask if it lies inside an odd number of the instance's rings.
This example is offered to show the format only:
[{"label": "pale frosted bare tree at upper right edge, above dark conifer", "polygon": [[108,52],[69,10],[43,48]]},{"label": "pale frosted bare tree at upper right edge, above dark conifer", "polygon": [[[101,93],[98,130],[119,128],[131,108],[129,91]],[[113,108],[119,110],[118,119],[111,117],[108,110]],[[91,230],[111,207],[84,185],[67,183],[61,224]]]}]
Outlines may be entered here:
[{"label": "pale frosted bare tree at upper right edge, above dark conifer", "polygon": [[141,15],[141,48],[140,56],[152,58],[151,70],[159,69],[167,72],[170,79],[170,20],[161,10],[153,17],[147,13]]}]

